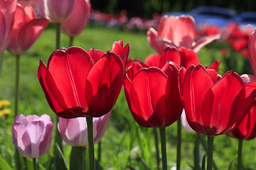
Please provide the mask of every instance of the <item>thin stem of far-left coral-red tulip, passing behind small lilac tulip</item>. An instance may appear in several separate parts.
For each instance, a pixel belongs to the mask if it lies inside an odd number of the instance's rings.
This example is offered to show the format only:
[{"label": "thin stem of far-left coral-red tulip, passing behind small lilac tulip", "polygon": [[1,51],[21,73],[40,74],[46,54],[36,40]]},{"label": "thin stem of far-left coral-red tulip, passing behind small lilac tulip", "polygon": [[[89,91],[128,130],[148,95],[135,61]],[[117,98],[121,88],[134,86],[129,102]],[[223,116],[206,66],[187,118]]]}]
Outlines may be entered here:
[{"label": "thin stem of far-left coral-red tulip, passing behind small lilac tulip", "polygon": [[[20,72],[20,57],[21,57],[20,55],[16,55],[14,119],[18,115],[18,86],[19,86],[19,72]],[[21,161],[19,159],[19,152],[17,148],[15,148],[15,164],[16,164],[16,170],[20,170]]]}]

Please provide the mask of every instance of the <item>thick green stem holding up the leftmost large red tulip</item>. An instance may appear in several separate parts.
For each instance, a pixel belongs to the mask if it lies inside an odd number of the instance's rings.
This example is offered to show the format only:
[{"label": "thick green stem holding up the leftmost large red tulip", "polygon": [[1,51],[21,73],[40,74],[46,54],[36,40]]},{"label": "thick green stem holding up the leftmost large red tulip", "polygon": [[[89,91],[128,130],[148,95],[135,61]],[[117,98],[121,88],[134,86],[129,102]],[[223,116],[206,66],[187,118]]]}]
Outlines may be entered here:
[{"label": "thick green stem holding up the leftmost large red tulip", "polygon": [[95,151],[94,151],[94,142],[93,142],[92,118],[87,117],[86,121],[87,121],[87,134],[88,134],[88,144],[89,144],[90,170],[95,170]]}]

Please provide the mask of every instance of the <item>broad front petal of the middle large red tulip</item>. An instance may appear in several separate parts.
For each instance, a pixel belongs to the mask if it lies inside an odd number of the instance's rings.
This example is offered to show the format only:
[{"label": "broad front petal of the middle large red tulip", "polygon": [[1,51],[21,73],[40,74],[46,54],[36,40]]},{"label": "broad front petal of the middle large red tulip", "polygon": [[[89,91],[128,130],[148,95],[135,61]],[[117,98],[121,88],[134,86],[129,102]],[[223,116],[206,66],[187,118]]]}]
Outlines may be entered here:
[{"label": "broad front petal of the middle large red tulip", "polygon": [[[132,81],[130,95],[137,113],[151,127],[163,127],[166,112],[164,94],[168,78],[161,69],[140,69]],[[157,93],[156,93],[157,91]],[[145,123],[144,123],[145,124]],[[145,126],[142,124],[142,126]]]}]

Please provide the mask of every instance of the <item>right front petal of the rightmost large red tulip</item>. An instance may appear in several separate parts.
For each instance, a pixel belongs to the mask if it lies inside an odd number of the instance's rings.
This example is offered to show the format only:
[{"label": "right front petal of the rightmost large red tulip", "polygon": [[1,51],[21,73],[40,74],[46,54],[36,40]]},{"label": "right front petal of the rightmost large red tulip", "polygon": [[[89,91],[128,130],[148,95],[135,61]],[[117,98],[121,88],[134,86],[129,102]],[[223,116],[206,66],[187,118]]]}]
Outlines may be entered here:
[{"label": "right front petal of the rightmost large red tulip", "polygon": [[[228,89],[223,93],[223,89]],[[211,87],[202,105],[203,125],[216,128],[215,133],[232,127],[242,113],[245,102],[245,88],[238,74],[231,71],[226,73],[213,87]],[[212,106],[209,106],[210,103]],[[209,114],[211,113],[211,115]],[[208,135],[213,135],[209,134]]]}]

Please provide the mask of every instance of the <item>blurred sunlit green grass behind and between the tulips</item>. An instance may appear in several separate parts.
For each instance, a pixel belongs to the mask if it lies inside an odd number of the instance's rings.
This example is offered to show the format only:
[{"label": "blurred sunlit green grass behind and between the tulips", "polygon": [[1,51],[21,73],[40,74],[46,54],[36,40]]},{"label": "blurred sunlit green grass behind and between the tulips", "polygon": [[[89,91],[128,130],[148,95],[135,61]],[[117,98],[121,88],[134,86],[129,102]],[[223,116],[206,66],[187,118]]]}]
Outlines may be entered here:
[{"label": "blurred sunlit green grass behind and between the tulips", "polygon": [[[147,55],[154,53],[154,50],[149,47],[149,42],[146,40],[146,33],[127,32],[114,28],[88,27],[84,30],[82,35],[75,38],[74,45],[80,46],[85,50],[95,47],[96,49],[106,52],[107,50],[111,50],[113,42],[117,40],[123,40],[124,45],[128,42],[130,43],[129,57],[144,61]],[[240,74],[243,73],[245,71],[244,68],[248,67],[247,59],[240,57],[237,52],[233,52],[229,57],[223,58],[219,50],[220,47],[226,46],[225,42],[215,42],[212,45],[203,47],[203,49],[198,52],[202,64],[205,66],[210,65],[215,59],[238,61],[235,63],[240,63],[240,65],[239,67],[235,67],[235,71],[238,70]],[[68,37],[65,35],[61,37],[61,47],[68,47]],[[55,30],[48,28],[33,47],[21,56],[19,113],[23,113],[24,115],[42,115],[46,113],[54,120],[55,114],[50,110],[37,78],[39,60],[43,60],[43,62],[46,63],[48,57],[54,50]],[[220,64],[220,74],[227,72],[228,69],[230,68],[227,63],[222,62]],[[248,70],[248,72],[251,72],[250,69]],[[15,57],[9,54],[9,52],[5,52],[4,65],[0,79],[0,98],[11,101],[12,111],[14,111],[14,79]],[[2,129],[0,130],[0,152],[1,157],[14,167],[14,145],[12,145],[11,142],[13,117],[14,113],[11,113],[6,121],[7,125],[4,125],[4,123],[0,125]],[[4,118],[2,117],[1,119],[2,122],[4,122]],[[176,123],[174,123],[166,128],[167,161],[169,168],[174,166],[176,162],[176,126]],[[194,140],[195,135],[182,130],[181,169],[191,169],[189,165],[193,165]],[[215,150],[213,152],[213,158],[220,169],[227,169],[230,162],[233,160],[236,162],[238,141],[221,135],[215,137],[214,143]],[[64,148],[65,159],[69,164],[71,147],[64,145]],[[95,149],[97,158],[97,145],[95,145]],[[256,169],[256,156],[252,154],[256,152],[255,142],[253,140],[245,141],[243,152],[243,165],[245,169]],[[47,162],[51,154],[53,154],[53,147],[51,147],[48,155],[40,159],[41,164]],[[153,130],[137,125],[131,113],[129,113],[124,91],[122,90],[113,108],[105,136],[102,138],[102,161],[100,164],[104,169],[127,169],[127,166],[144,169],[142,161],[138,161],[142,158],[151,169],[156,169],[155,154],[156,148],[154,147]],[[202,154],[205,154],[203,149]]]}]

